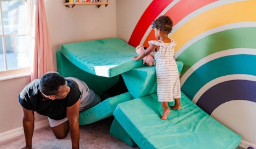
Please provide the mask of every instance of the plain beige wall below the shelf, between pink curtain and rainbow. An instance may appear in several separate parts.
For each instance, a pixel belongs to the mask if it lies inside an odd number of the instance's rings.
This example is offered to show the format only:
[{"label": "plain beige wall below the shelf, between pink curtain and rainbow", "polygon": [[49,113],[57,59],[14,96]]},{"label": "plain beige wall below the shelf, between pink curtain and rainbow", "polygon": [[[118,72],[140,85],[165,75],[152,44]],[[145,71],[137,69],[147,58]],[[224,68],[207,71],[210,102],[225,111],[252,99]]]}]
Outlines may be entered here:
[{"label": "plain beige wall below the shelf, between pink curtain and rainbow", "polygon": [[45,0],[55,70],[55,52],[62,44],[116,38],[116,1],[111,0],[107,7],[100,8],[89,5],[67,8],[63,1]]}]

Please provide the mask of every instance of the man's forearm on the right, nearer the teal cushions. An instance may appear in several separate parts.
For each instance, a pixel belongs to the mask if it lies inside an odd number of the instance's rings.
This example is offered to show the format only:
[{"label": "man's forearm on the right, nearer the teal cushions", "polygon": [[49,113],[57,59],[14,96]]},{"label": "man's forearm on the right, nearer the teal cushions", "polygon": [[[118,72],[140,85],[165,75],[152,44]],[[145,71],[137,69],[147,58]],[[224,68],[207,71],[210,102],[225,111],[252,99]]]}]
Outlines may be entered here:
[{"label": "man's forearm on the right, nearer the teal cushions", "polygon": [[79,108],[80,99],[72,106],[67,107],[67,119],[69,119],[69,131],[72,148],[79,148]]}]

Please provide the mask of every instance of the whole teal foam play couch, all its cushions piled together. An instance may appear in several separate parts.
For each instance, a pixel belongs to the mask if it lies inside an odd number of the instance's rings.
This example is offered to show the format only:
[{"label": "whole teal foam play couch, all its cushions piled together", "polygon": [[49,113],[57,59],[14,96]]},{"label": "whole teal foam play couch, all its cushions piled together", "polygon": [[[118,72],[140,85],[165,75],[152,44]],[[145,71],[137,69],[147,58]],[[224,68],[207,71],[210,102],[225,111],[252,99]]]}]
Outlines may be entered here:
[{"label": "whole teal foam play couch, all its cushions piled together", "polygon": [[[139,148],[237,148],[241,136],[216,121],[182,93],[181,110],[163,121],[156,95],[155,66],[132,59],[135,47],[118,38],[63,44],[58,71],[82,79],[103,96],[122,77],[128,92],[109,97],[80,113],[79,124],[114,116],[109,133]],[[181,72],[183,63],[177,62]],[[171,103],[173,104],[173,103]]]}]

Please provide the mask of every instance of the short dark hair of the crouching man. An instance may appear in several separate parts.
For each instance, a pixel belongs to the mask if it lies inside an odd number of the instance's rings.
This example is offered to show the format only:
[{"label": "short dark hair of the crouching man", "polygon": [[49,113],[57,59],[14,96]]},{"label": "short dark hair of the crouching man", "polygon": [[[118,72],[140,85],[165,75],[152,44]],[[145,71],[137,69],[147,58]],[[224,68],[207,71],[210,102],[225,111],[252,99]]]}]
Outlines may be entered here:
[{"label": "short dark hair of the crouching man", "polygon": [[39,90],[45,95],[58,95],[59,86],[63,86],[66,79],[56,72],[45,73],[39,84]]}]

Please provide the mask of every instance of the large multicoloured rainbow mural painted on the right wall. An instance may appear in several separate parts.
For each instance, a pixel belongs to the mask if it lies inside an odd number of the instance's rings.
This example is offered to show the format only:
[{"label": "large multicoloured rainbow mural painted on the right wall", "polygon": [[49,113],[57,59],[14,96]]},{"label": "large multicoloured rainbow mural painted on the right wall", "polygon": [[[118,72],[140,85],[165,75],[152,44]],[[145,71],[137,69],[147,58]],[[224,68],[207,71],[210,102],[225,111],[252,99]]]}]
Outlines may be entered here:
[{"label": "large multicoloured rainbow mural painted on the right wall", "polygon": [[[256,1],[242,0],[153,0],[129,44],[148,46],[148,41],[155,39],[151,22],[168,15],[174,23],[169,37],[177,42],[174,57],[184,62],[181,90],[209,115],[234,100],[254,105],[249,115],[255,115],[255,6]],[[256,116],[247,122],[255,124]],[[243,139],[256,144],[256,128],[250,131],[250,137],[245,136],[247,132],[239,134],[244,133]]]}]

